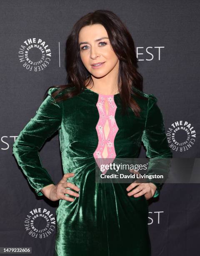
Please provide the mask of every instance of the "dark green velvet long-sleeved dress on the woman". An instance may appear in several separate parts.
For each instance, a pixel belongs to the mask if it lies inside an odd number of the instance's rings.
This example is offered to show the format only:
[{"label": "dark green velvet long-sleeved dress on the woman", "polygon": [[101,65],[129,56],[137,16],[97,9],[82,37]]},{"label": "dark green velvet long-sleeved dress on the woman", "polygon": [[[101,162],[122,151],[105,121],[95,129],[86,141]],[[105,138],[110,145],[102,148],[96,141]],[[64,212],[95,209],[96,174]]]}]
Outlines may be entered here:
[{"label": "dark green velvet long-sleeved dress on the woman", "polygon": [[[129,184],[95,182],[93,154],[99,141],[96,130],[99,95],[85,89],[75,97],[55,103],[52,97],[55,90],[57,88],[49,89],[36,115],[13,144],[19,166],[41,196],[42,187],[55,183],[43,168],[38,151],[46,139],[59,130],[63,171],[75,173],[68,182],[80,188],[80,196],[73,197],[73,202],[59,201],[55,255],[150,256],[148,200],[144,195],[129,197],[126,191]],[[117,106],[116,157],[137,158],[143,141],[147,157],[171,158],[157,99],[153,94],[140,94],[146,99],[132,95],[142,109],[140,118],[130,108],[128,114],[122,116],[120,95],[113,95]],[[160,194],[160,184],[156,186],[154,197]]]}]

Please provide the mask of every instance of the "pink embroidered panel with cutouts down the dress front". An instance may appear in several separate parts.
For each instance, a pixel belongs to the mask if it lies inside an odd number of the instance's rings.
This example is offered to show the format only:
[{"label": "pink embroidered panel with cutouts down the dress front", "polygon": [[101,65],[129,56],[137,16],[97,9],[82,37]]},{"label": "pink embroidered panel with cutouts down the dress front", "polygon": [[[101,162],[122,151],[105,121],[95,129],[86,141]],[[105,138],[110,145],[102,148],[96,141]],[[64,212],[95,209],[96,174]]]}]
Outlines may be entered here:
[{"label": "pink embroidered panel with cutouts down the dress front", "polygon": [[[93,156],[95,159],[98,159],[96,162],[99,166],[100,159],[109,159],[109,163],[112,163],[115,159],[114,140],[119,128],[115,121],[117,106],[114,101],[114,95],[99,94],[96,106],[99,112],[99,120],[96,125],[98,146]],[[109,163],[104,161],[104,164]]]}]

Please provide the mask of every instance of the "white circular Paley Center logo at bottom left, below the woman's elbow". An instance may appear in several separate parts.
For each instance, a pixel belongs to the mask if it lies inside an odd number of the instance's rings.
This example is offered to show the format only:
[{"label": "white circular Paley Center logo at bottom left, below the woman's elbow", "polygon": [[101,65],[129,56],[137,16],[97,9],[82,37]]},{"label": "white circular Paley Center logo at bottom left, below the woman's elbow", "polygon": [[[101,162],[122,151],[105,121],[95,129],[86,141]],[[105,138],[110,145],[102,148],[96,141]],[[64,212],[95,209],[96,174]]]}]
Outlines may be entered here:
[{"label": "white circular Paley Center logo at bottom left, below the woman's elbow", "polygon": [[53,214],[46,208],[35,208],[26,216],[25,230],[34,238],[46,238],[55,230],[56,223]]}]

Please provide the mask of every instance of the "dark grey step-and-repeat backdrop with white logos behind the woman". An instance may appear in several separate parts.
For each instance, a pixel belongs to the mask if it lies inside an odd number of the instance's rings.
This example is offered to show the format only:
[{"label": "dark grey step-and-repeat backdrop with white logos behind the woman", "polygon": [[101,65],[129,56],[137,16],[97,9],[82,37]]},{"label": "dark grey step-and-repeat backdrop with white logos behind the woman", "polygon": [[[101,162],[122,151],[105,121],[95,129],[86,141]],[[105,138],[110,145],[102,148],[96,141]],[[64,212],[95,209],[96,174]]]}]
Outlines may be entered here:
[{"label": "dark grey step-and-repeat backdrop with white logos behind the woman", "polygon": [[[200,6],[197,0],[1,0],[0,5],[0,247],[32,247],[34,256],[52,256],[58,202],[36,196],[12,146],[47,88],[66,83],[65,42],[72,26],[97,9],[121,18],[135,41],[143,90],[158,98],[173,157],[199,158]],[[145,157],[144,147],[140,157]],[[46,141],[40,159],[59,182],[58,133]],[[198,183],[164,184],[160,196],[149,200],[152,256],[198,255],[199,216]]]}]

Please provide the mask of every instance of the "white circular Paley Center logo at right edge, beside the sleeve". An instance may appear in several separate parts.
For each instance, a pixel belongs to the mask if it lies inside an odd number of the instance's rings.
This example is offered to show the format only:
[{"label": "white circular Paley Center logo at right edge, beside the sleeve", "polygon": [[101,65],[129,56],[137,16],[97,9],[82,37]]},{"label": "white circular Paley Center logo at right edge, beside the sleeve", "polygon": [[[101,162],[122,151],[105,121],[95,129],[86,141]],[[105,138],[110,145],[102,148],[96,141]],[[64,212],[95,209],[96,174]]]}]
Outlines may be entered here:
[{"label": "white circular Paley Center logo at right edge, beside the sleeve", "polygon": [[196,132],[188,121],[175,121],[168,128],[166,136],[170,148],[178,152],[189,150],[196,141]]}]

